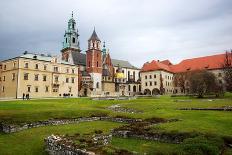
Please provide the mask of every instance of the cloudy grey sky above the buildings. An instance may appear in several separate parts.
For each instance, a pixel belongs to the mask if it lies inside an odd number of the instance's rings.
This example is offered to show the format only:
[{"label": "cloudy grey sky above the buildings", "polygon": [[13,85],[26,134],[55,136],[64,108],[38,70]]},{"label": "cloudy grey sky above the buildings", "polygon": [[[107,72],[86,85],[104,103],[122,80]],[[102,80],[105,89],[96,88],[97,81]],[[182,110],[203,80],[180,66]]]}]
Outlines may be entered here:
[{"label": "cloudy grey sky above the buildings", "polygon": [[74,12],[82,52],[93,27],[111,57],[135,66],[232,48],[232,0],[1,0],[0,59],[58,55]]}]

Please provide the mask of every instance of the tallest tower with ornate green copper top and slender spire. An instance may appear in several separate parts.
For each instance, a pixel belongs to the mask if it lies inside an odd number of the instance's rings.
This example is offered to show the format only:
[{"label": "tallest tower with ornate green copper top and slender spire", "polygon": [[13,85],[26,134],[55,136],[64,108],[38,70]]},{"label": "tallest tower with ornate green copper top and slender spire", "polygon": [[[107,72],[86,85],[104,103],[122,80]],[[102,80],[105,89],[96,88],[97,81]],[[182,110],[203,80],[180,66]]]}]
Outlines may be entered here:
[{"label": "tallest tower with ornate green copper top and slender spire", "polygon": [[71,52],[80,52],[79,34],[76,27],[76,21],[72,16],[68,21],[68,29],[65,30],[63,48],[61,50],[62,60],[69,61]]}]

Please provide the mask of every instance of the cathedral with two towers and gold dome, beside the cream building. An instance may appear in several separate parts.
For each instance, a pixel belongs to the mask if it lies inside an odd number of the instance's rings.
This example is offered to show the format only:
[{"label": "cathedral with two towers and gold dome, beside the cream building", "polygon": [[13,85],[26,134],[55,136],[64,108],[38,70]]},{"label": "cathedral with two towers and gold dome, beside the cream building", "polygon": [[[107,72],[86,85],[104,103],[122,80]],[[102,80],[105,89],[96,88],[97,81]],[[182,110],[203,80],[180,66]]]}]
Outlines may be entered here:
[{"label": "cathedral with two towers and gold dome, beside the cream building", "polygon": [[123,60],[111,59],[95,28],[88,49],[81,52],[78,29],[73,19],[65,31],[62,60],[79,67],[79,96],[136,95],[141,91],[140,69]]}]

